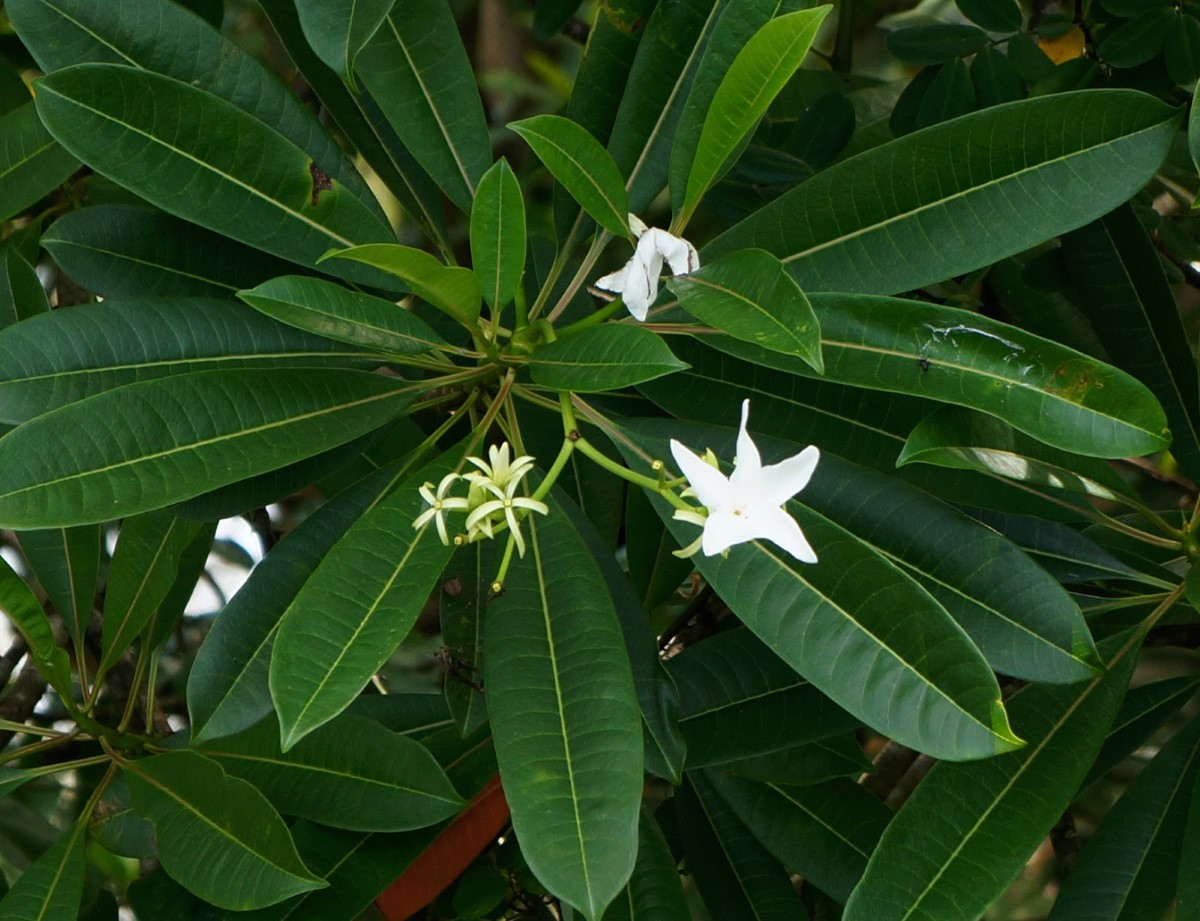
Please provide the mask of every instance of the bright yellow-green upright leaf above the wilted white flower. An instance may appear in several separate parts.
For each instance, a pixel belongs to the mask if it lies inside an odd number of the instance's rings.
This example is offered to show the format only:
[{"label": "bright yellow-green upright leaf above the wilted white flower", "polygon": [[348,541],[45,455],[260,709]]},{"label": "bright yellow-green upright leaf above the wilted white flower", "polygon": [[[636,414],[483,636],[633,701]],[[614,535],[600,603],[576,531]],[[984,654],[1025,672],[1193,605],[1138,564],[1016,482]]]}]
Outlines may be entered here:
[{"label": "bright yellow-green upright leaf above the wilted white flower", "polygon": [[833,6],[827,5],[772,19],[738,52],[704,116],[688,175],[684,219],[799,68],[830,10]]}]

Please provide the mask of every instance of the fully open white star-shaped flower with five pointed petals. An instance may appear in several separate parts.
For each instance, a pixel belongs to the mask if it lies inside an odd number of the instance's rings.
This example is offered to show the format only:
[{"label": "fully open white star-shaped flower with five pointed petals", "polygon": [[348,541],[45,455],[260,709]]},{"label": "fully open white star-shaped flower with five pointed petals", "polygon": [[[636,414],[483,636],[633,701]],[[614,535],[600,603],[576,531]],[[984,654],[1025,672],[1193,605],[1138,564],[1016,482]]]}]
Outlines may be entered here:
[{"label": "fully open white star-shaped flower with five pointed petals", "polygon": [[769,466],[762,465],[758,449],[746,432],[750,401],[742,404],[742,428],[738,431],[738,455],[733,472],[726,477],[703,458],[671,439],[671,453],[696,498],[708,510],[676,512],[676,518],[703,524],[701,547],[706,556],[722,553],[734,543],[764,537],[782,547],[802,562],[816,562],[817,555],[796,520],[784,510],[784,502],[809,483],[821,452],[814,445],[794,457]]}]

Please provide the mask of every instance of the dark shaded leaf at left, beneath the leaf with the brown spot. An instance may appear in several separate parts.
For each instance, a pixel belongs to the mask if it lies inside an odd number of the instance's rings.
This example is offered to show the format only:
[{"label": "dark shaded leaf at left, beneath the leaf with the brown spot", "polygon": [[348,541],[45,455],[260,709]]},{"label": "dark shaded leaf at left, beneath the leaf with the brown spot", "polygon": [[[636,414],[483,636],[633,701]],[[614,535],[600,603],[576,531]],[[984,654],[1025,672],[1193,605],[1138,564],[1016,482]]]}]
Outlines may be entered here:
[{"label": "dark shaded leaf at left, beneath the leaf with the brown spot", "polygon": [[42,246],[74,282],[103,297],[229,297],[295,269],[137,205],[94,205],[64,215],[42,235]]}]

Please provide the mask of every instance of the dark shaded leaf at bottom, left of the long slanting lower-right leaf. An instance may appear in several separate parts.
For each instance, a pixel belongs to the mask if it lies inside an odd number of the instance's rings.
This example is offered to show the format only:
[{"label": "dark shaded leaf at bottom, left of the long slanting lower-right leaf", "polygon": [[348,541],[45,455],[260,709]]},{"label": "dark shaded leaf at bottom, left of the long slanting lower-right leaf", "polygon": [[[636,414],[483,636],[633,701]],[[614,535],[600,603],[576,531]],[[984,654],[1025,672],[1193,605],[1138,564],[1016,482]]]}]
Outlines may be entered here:
[{"label": "dark shaded leaf at bottom, left of the long slanting lower-right leaf", "polygon": [[792,787],[718,771],[706,777],[767,850],[839,902],[850,898],[892,818],[850,779]]}]

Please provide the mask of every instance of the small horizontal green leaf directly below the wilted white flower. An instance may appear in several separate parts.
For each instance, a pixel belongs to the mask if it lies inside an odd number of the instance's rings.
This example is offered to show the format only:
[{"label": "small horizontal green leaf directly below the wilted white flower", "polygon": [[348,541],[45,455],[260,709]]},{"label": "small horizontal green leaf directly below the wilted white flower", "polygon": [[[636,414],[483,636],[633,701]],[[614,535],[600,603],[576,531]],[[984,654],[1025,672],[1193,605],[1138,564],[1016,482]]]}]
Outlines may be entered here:
[{"label": "small horizontal green leaf directly below the wilted white flower", "polygon": [[542,345],[529,359],[538,384],[580,393],[620,390],[686,367],[659,336],[618,323],[581,330]]}]

